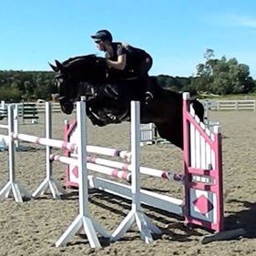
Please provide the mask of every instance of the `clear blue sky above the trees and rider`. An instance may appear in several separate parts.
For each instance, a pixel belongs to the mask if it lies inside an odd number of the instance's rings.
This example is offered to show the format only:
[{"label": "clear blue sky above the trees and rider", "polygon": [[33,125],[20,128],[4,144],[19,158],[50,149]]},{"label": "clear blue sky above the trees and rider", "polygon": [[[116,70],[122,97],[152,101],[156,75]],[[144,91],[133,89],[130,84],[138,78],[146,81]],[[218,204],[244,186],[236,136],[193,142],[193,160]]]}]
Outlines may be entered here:
[{"label": "clear blue sky above the trees and rider", "polygon": [[192,76],[210,48],[249,65],[256,78],[255,0],[0,0],[0,70],[101,56],[90,38],[99,29],[146,49],[151,75]]}]

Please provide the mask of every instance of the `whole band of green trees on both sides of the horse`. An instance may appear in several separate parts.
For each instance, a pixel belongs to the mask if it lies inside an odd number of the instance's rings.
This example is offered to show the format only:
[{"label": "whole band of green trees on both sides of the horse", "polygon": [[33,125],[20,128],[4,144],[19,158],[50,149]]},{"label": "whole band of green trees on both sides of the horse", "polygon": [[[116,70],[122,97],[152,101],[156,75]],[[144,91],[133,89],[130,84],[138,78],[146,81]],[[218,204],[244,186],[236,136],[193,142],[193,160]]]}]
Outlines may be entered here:
[{"label": "whole band of green trees on both sides of the horse", "polygon": [[[236,58],[222,56],[214,58],[207,49],[205,63],[197,66],[193,77],[171,77],[159,75],[160,87],[175,91],[189,91],[192,95],[229,95],[256,92],[256,80],[250,76],[250,67],[240,64]],[[0,100],[33,101],[37,98],[49,100],[57,93],[54,73],[47,71],[0,71]]]}]

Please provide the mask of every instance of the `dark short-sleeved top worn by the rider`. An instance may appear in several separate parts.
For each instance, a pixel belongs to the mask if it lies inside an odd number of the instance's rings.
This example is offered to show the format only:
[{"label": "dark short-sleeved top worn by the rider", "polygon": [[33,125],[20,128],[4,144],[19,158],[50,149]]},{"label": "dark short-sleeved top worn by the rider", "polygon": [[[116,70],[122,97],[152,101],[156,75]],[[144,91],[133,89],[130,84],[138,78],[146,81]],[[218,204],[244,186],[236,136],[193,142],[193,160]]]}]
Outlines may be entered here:
[{"label": "dark short-sleeved top worn by the rider", "polygon": [[137,68],[140,62],[148,57],[148,53],[142,49],[125,45],[122,43],[114,42],[111,44],[113,47],[113,55],[111,56],[110,53],[106,53],[106,57],[110,60],[117,61],[118,56],[127,55],[127,65],[125,67],[126,70]]}]

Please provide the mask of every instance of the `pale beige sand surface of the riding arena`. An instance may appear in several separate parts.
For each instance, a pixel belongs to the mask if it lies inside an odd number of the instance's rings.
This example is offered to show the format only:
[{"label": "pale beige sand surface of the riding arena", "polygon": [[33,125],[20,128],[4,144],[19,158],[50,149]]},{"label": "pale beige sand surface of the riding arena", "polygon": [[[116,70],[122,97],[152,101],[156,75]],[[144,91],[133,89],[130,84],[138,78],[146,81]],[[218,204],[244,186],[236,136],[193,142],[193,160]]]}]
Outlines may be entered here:
[{"label": "pale beige sand surface of the riding arena", "polygon": [[[74,116],[73,116],[74,117]],[[53,138],[63,138],[64,114],[53,116]],[[68,117],[72,119],[72,117]],[[0,256],[69,256],[69,255],[256,255],[256,112],[211,112],[219,120],[225,138],[223,174],[225,189],[225,222],[229,230],[243,227],[246,238],[200,244],[205,230],[188,230],[182,219],[152,208],[145,213],[163,231],[152,244],[140,240],[137,228],[125,234],[121,241],[103,241],[103,249],[91,249],[87,238],[75,236],[66,247],[56,248],[55,242],[77,216],[77,191],[67,189],[65,200],[52,200],[49,195],[22,204],[12,199],[0,201]],[[1,121],[3,123],[3,121]],[[21,125],[21,132],[44,137],[44,115],[39,124]],[[3,133],[2,130],[0,133]],[[92,145],[129,148],[129,124],[96,128],[88,122],[88,142]],[[23,143],[23,145],[27,145]],[[45,178],[44,147],[33,146],[27,152],[17,152],[16,179],[29,191],[34,191]],[[54,150],[61,153],[61,150]],[[141,165],[158,169],[176,169],[182,173],[181,151],[171,145],[141,148]],[[1,186],[7,180],[7,152],[0,152]],[[64,165],[54,163],[54,176],[63,183]],[[143,188],[181,198],[182,188],[173,182],[142,176]],[[109,232],[123,220],[130,204],[128,200],[90,190],[91,215]]]}]

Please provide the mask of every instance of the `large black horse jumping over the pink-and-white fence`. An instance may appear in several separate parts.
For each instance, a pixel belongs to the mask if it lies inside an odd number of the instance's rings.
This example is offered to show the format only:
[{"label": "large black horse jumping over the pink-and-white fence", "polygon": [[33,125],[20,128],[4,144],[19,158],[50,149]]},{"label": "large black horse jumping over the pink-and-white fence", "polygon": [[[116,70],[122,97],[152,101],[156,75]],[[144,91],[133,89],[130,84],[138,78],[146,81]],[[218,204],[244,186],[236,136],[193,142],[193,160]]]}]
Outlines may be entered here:
[{"label": "large black horse jumping over the pink-and-white fence", "polygon": [[[153,87],[153,100],[145,104],[143,81],[139,77],[122,77],[109,68],[106,59],[87,55],[68,58],[64,62],[50,64],[56,73],[59,103],[67,115],[74,102],[86,96],[87,117],[93,125],[130,121],[130,101],[140,101],[140,122],[154,123],[161,138],[183,149],[182,93],[160,87],[157,77],[148,77]],[[204,108],[199,100],[191,100],[196,115],[203,121]]]}]

